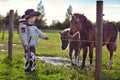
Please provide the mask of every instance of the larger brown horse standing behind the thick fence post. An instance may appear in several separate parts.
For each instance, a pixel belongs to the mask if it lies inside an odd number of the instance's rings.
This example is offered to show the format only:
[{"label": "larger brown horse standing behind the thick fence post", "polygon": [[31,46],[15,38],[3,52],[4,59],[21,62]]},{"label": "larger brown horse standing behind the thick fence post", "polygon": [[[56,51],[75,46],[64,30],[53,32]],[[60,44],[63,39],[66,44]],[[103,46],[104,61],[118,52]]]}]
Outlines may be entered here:
[{"label": "larger brown horse standing behind the thick fence post", "polygon": [[[75,13],[72,15],[70,22],[70,34],[73,35],[76,31],[80,32],[81,47],[83,48],[83,62],[81,69],[85,68],[85,60],[87,56],[87,48],[89,48],[90,68],[92,67],[93,49],[95,47],[96,27],[83,14]],[[112,22],[103,25],[103,45],[106,45],[110,52],[110,61],[108,69],[112,68],[113,52],[117,48],[118,28]]]}]

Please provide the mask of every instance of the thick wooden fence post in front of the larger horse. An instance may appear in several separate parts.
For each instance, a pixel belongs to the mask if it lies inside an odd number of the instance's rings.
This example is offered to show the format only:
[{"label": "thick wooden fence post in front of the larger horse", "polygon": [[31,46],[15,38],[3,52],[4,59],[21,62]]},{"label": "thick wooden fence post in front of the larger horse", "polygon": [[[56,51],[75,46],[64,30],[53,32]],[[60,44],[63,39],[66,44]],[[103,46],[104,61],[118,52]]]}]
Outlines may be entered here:
[{"label": "thick wooden fence post in front of the larger horse", "polygon": [[102,80],[102,38],[103,38],[103,1],[98,0],[96,5],[96,70],[95,80]]}]

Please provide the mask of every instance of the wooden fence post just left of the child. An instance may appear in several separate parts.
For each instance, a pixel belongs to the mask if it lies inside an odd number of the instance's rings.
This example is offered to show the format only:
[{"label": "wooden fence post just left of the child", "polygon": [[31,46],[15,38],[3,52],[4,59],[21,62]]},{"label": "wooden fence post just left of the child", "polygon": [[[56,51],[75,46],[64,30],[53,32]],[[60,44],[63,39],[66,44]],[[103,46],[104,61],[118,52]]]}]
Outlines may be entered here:
[{"label": "wooden fence post just left of the child", "polygon": [[12,59],[12,29],[14,25],[14,11],[10,10],[9,13],[9,36],[8,36],[8,58]]}]

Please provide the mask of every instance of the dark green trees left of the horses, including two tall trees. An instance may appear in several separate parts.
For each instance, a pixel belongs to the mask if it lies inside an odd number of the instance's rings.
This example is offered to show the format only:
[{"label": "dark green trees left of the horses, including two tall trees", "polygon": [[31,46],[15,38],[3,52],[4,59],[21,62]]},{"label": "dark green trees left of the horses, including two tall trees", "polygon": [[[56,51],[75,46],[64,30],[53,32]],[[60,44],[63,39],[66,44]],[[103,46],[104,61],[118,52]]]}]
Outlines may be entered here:
[{"label": "dark green trees left of the horses, including two tall trees", "polygon": [[[63,22],[60,22],[59,20],[53,20],[51,25],[47,25],[46,19],[44,19],[45,13],[44,13],[44,6],[42,5],[42,2],[38,4],[37,10],[41,12],[41,16],[37,18],[35,21],[35,24],[38,28],[40,29],[57,29],[57,30],[62,30],[65,28],[68,28],[69,25],[69,17],[70,13],[72,13],[72,6],[69,6],[66,12],[66,18]],[[16,10],[14,12],[14,28],[17,29],[19,22],[18,20],[20,19],[20,15],[18,14],[18,11]],[[2,16],[0,14],[0,29],[2,29],[2,24],[5,23],[6,29],[8,28],[9,25],[9,12],[6,13],[5,16]]]}]

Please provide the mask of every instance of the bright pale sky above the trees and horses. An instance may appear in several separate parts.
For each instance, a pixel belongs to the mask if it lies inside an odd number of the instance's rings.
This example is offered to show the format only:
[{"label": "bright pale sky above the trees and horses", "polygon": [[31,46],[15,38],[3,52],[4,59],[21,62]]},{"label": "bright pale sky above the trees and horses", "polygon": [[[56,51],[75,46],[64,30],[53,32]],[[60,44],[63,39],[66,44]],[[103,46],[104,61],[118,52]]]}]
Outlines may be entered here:
[{"label": "bright pale sky above the trees and horses", "polygon": [[[0,14],[5,15],[10,9],[18,10],[20,15],[28,8],[36,10],[40,0],[0,0]],[[51,24],[52,20],[64,21],[69,5],[73,13],[84,13],[93,22],[96,21],[96,0],[42,0],[45,7],[45,19]],[[104,19],[120,21],[120,0],[104,0]]]}]

